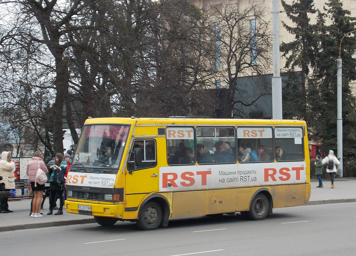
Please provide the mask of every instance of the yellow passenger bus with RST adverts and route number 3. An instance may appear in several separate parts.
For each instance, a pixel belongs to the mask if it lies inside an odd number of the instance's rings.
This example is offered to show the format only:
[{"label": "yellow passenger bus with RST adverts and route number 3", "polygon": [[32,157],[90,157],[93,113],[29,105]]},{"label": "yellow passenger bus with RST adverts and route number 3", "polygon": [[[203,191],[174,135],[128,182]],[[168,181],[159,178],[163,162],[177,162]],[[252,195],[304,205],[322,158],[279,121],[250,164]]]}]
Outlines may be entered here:
[{"label": "yellow passenger bus with RST adverts and route number 3", "polygon": [[240,212],[252,220],[310,197],[304,121],[89,118],[66,180],[66,211],[100,225]]}]

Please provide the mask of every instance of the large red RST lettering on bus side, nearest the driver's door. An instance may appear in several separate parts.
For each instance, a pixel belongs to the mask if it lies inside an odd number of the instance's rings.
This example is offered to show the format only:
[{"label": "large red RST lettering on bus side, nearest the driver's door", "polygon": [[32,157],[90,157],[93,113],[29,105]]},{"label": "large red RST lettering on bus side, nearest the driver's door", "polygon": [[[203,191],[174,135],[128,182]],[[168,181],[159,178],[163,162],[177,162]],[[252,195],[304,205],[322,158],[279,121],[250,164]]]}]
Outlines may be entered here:
[{"label": "large red RST lettering on bus side, nearest the driver's door", "polygon": [[[201,187],[206,186],[206,177],[211,175],[211,171],[185,171],[180,174],[180,179],[178,179],[178,174],[175,172],[164,172],[162,173],[162,188],[167,188],[168,186],[178,187],[191,187],[195,182],[199,182]],[[182,181],[179,181],[182,180]]]}]

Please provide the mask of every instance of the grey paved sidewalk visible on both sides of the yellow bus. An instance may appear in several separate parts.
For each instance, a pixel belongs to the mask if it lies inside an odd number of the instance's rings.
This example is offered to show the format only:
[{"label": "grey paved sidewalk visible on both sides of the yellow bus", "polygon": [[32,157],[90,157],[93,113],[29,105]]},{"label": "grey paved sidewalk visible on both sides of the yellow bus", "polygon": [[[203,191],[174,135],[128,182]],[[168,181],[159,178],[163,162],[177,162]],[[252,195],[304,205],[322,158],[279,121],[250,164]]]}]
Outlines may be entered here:
[{"label": "grey paved sidewalk visible on both sides of the yellow bus", "polygon": [[[323,188],[316,188],[318,182],[311,182],[311,184],[312,192],[307,205],[356,202],[356,180],[335,179],[334,189],[330,188],[330,181],[324,181]],[[31,218],[29,216],[30,203],[31,200],[29,199],[10,201],[9,208],[14,213],[0,214],[0,231],[95,222],[92,216],[72,214],[65,211],[63,211],[63,215],[46,215],[48,212],[48,200],[45,201],[45,209],[40,210],[43,213],[43,217]],[[53,213],[56,212],[57,210],[53,210]]]}]

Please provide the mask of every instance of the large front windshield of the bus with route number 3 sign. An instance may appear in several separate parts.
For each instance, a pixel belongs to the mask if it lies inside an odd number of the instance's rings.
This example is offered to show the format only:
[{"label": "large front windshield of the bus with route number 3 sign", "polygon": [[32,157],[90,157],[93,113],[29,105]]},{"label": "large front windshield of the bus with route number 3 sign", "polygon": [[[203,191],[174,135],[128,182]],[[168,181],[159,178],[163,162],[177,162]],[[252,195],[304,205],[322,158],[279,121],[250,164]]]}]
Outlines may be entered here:
[{"label": "large front windshield of the bus with route number 3 sign", "polygon": [[119,168],[129,129],[127,125],[84,126],[72,165]]}]

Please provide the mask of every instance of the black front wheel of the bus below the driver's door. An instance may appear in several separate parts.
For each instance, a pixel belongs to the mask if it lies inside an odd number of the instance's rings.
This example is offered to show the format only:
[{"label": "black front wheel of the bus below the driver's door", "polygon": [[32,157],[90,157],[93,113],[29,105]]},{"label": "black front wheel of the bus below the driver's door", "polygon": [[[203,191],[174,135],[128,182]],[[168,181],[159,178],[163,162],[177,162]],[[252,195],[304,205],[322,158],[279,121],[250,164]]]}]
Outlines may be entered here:
[{"label": "black front wheel of the bus below the driver's door", "polygon": [[142,230],[157,229],[162,223],[162,209],[155,201],[147,202],[140,210],[138,228]]}]

